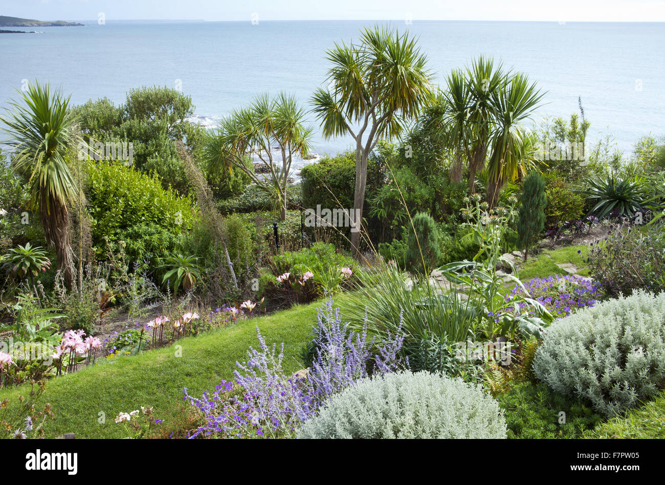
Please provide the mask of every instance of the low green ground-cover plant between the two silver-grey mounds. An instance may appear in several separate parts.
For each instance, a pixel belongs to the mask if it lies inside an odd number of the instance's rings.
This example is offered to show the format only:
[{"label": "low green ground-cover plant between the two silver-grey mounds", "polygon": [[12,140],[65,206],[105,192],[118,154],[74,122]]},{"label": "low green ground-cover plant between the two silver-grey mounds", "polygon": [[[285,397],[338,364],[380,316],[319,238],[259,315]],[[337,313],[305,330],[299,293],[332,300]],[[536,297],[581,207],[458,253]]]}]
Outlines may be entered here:
[{"label": "low green ground-cover plant between the two silver-grey mounds", "polygon": [[581,438],[603,420],[589,403],[565,398],[543,383],[519,383],[497,400],[508,438]]}]

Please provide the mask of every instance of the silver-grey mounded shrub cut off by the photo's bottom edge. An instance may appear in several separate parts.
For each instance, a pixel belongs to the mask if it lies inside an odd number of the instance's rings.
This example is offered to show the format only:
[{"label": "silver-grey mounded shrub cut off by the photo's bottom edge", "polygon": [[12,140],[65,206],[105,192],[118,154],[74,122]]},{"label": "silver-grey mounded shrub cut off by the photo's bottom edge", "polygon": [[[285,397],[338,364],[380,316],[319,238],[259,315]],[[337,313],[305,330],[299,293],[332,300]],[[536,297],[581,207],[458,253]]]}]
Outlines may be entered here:
[{"label": "silver-grey mounded shrub cut off by the photo's bottom edge", "polygon": [[497,401],[439,374],[390,373],[334,395],[299,438],[505,438]]}]

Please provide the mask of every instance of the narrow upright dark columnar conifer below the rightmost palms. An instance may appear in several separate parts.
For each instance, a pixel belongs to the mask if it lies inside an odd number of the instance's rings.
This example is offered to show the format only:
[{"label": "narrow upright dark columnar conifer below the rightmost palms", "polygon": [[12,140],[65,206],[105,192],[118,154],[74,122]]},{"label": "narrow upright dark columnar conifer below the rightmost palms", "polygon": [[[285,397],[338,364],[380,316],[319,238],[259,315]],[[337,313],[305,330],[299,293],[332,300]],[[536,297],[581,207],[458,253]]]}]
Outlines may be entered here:
[{"label": "narrow upright dark columnar conifer below the rightmost palms", "polygon": [[522,205],[519,208],[517,220],[517,234],[519,242],[524,249],[524,259],[527,251],[538,242],[545,229],[545,180],[541,174],[533,170],[527,175],[522,188]]}]

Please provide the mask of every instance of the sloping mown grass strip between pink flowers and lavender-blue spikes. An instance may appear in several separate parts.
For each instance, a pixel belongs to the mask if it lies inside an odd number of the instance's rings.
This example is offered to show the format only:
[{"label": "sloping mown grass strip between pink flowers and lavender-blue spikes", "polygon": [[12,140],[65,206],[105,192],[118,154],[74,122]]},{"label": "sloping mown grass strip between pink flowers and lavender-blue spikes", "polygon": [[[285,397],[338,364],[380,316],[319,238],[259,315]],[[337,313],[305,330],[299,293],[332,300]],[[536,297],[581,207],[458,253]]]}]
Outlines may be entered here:
[{"label": "sloping mown grass strip between pink flowers and lavender-blue spikes", "polygon": [[[342,299],[342,297],[338,297]],[[220,379],[230,380],[236,361],[244,361],[247,348],[259,347],[256,327],[266,343],[284,343],[284,367],[295,372],[304,367],[302,355],[316,321],[316,308],[322,301],[279,311],[266,317],[237,323],[233,327],[181,339],[178,347],[148,351],[133,357],[120,357],[112,363],[51,379],[40,404],[53,404],[55,418],[45,427],[47,437],[74,432],[77,438],[123,438],[124,426],[114,422],[118,412],[140,406],[153,406],[155,417],[168,420],[182,412],[182,390],[198,396],[213,390]],[[0,401],[26,395],[29,387],[1,389]],[[10,412],[13,404],[10,404]],[[98,423],[100,412],[105,424]]]}]

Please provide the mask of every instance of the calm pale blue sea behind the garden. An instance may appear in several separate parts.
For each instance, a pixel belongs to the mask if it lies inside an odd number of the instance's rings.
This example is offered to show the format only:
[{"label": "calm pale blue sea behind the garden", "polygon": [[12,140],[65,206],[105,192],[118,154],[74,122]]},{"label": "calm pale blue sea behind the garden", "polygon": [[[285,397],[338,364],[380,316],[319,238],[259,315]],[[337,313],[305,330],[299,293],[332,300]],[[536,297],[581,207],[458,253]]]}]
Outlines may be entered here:
[{"label": "calm pale blue sea behind the garden", "polygon": [[[178,88],[192,96],[193,120],[209,127],[258,94],[285,91],[307,106],[325,86],[326,50],[379,23],[418,37],[435,84],[479,55],[529,75],[545,92],[529,124],[580,113],[581,102],[592,144],[609,136],[630,154],[640,136],[665,135],[665,23],[78,22],[84,26],[0,34],[0,110],[35,79],[60,87],[74,104],[102,97],[120,104],[143,85]],[[352,147],[348,136],[323,138],[312,114],[308,122],[320,156]]]}]

